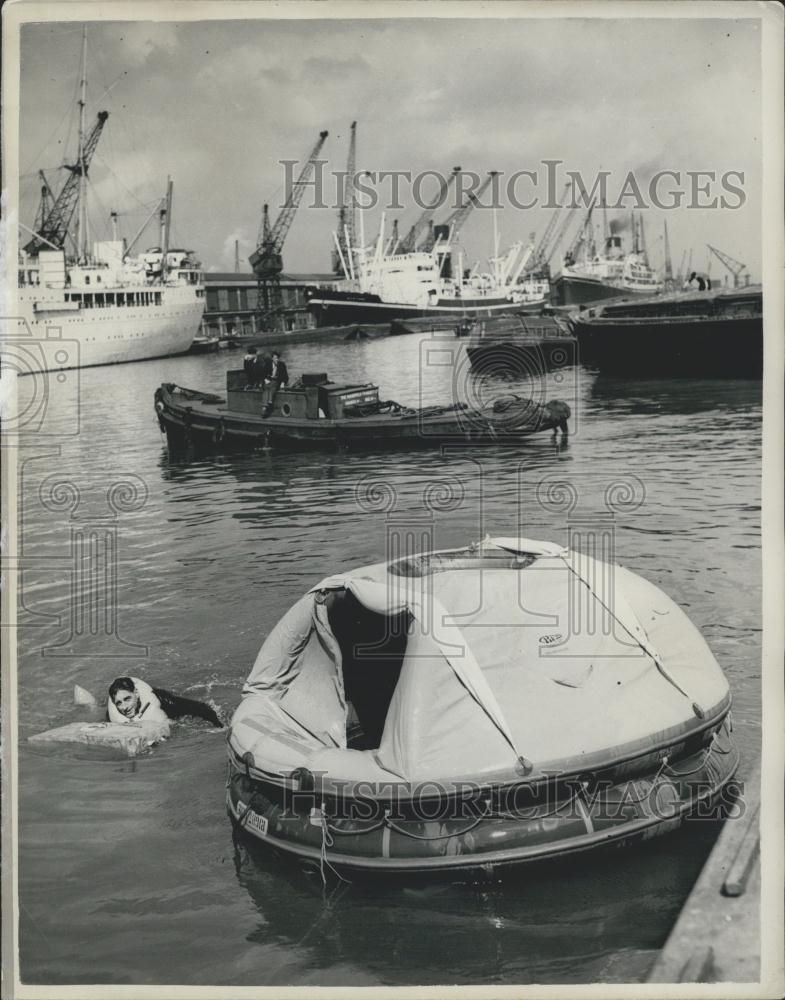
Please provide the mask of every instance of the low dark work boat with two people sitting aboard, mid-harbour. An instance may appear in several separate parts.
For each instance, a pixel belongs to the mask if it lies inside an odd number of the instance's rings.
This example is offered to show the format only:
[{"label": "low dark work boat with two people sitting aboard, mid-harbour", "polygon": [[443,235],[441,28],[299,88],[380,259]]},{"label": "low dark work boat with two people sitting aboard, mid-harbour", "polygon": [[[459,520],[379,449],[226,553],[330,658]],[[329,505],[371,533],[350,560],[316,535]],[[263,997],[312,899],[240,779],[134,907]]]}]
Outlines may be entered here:
[{"label": "low dark work boat with two people sitting aboard, mid-harbour", "polygon": [[381,400],[370,382],[331,382],[303,375],[288,388],[249,385],[243,370],[226,373],[226,396],[164,383],[155,410],[172,451],[192,447],[414,447],[453,441],[519,441],[537,431],[568,433],[570,408],[507,395],[482,408],[466,403],[415,409]]}]

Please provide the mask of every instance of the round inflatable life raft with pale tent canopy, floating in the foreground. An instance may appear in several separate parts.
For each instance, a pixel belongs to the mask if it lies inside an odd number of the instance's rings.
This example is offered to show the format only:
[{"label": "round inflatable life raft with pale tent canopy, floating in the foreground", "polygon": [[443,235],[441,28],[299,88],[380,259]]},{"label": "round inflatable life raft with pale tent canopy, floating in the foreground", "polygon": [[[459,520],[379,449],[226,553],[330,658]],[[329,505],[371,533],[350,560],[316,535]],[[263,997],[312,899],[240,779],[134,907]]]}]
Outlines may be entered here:
[{"label": "round inflatable life raft with pale tent canopy, floating in the foreground", "polygon": [[337,868],[485,869],[629,843],[729,795],[727,681],[662,591],[486,539],[328,577],[229,734],[238,830]]}]

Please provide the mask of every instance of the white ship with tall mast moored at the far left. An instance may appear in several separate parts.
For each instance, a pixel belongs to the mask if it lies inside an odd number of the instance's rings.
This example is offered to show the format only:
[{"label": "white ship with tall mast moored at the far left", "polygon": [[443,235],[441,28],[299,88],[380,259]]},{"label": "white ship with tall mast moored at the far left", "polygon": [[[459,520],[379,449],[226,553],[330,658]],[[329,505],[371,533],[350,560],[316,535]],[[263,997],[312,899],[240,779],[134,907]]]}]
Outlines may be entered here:
[{"label": "white ship with tall mast moored at the far left", "polygon": [[25,373],[184,353],[204,311],[201,265],[193,251],[169,246],[171,182],[159,211],[160,246],[131,256],[132,245],[116,237],[88,243],[88,168],[109,114],[99,112],[87,132],[85,57],[83,33],[76,159],[56,196],[42,189],[35,226],[20,227],[29,239],[18,259],[19,329],[5,352],[18,355],[14,367]]}]

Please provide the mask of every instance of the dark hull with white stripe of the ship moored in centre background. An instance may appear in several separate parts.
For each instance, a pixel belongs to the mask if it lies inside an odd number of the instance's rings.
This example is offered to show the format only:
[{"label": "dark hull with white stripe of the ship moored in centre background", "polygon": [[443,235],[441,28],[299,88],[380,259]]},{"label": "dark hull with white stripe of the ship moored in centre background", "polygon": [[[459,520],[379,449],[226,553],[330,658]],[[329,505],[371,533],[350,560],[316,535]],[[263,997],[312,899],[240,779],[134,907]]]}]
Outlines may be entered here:
[{"label": "dark hull with white stripe of the ship moored in centre background", "polygon": [[[307,293],[306,293],[307,294]],[[514,303],[501,296],[476,299],[439,299],[432,306],[405,302],[382,302],[378,295],[314,290],[308,296],[308,310],[318,327],[350,326],[355,323],[389,323],[400,319],[436,319],[442,322],[498,316],[505,312],[536,309],[542,303]]]}]

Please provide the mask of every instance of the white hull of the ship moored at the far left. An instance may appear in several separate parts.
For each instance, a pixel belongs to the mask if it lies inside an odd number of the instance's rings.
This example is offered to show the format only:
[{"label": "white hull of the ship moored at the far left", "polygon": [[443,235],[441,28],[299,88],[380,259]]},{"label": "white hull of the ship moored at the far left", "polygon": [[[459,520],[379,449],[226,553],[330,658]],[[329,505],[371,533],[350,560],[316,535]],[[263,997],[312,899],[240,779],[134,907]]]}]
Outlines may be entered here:
[{"label": "white hull of the ship moored at the far left", "polygon": [[204,311],[204,299],[189,286],[163,289],[160,305],[77,310],[59,305],[56,292],[33,300],[20,291],[21,322],[14,338],[20,374],[184,354]]}]

